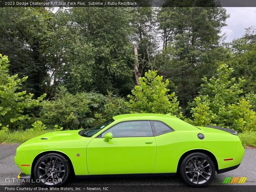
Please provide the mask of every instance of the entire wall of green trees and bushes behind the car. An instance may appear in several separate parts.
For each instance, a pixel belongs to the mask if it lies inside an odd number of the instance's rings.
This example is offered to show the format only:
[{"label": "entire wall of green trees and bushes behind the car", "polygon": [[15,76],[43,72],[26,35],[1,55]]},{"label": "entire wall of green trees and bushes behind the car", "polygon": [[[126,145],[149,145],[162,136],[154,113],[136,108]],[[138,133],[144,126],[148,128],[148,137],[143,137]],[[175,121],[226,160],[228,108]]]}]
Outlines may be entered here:
[{"label": "entire wall of green trees and bushes behind the car", "polygon": [[[0,53],[11,60],[1,56],[2,129],[30,128],[35,121],[78,129],[130,112],[170,112],[197,125],[255,129],[255,27],[224,43],[229,15],[208,3],[2,8]],[[132,75],[135,63],[140,86]]]}]

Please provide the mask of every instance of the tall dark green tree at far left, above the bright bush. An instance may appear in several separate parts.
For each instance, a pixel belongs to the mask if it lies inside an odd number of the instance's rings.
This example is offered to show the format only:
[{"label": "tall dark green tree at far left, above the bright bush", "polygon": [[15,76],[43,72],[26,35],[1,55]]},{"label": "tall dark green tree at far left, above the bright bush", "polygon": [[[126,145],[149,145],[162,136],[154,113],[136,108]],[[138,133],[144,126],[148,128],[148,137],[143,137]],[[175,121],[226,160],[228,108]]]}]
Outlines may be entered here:
[{"label": "tall dark green tree at far left, above the bright bush", "polygon": [[[46,8],[6,7],[1,9],[0,52],[8,55],[12,63],[10,73],[19,77],[28,76],[24,90],[36,97],[44,93],[44,83],[48,78],[48,67],[56,52],[52,48],[56,22],[54,13]],[[59,43],[59,42],[58,42]]]}]

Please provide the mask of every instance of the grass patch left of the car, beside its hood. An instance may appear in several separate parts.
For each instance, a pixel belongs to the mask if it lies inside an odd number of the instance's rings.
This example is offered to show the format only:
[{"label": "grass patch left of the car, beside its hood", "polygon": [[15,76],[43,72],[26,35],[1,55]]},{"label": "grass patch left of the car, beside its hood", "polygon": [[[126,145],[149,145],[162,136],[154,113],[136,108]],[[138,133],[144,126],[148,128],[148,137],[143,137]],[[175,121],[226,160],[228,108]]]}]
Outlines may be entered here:
[{"label": "grass patch left of the car, beside its hood", "polygon": [[15,132],[0,132],[0,144],[5,142],[8,144],[24,143],[25,141],[32,139],[33,137],[43,135],[44,133],[53,132],[55,130],[45,131],[15,131]]}]

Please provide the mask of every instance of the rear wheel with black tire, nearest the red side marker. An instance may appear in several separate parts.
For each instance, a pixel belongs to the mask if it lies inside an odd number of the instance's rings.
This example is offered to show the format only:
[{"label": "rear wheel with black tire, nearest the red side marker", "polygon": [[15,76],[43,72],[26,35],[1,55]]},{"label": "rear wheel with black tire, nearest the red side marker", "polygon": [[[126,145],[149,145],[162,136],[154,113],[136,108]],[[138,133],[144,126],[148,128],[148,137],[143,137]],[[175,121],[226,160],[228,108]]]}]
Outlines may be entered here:
[{"label": "rear wheel with black tire, nearest the red side marker", "polygon": [[204,153],[188,154],[181,162],[180,176],[190,186],[206,186],[214,175],[214,163],[211,157]]}]

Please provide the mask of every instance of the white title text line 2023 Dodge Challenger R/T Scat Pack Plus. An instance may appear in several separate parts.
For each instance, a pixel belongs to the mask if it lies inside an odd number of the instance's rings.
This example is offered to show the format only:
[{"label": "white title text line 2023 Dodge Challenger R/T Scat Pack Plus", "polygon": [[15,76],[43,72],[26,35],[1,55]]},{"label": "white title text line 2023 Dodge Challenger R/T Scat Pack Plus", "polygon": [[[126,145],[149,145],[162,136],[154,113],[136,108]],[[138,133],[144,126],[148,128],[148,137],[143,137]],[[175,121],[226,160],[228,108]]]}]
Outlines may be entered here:
[{"label": "white title text line 2023 Dodge Challenger R/T Scat Pack Plus", "polygon": [[137,2],[112,2],[112,1],[105,1],[105,2],[97,2],[97,1],[89,1],[89,2],[63,2],[63,1],[50,1],[50,2],[4,2],[4,5],[12,5],[12,6],[136,6]]}]

